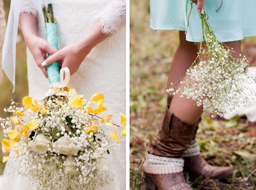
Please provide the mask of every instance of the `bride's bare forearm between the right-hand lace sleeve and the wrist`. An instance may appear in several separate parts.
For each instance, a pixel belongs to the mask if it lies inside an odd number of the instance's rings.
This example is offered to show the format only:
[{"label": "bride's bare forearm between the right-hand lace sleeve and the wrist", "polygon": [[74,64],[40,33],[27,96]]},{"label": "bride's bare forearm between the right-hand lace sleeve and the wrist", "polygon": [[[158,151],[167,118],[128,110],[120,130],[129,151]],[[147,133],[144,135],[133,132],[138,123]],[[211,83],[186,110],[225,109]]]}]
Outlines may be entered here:
[{"label": "bride's bare forearm between the right-hand lace sleeve and the wrist", "polygon": [[99,42],[104,40],[108,35],[102,33],[101,22],[98,21],[88,34],[77,42],[81,49],[88,50],[95,47]]}]

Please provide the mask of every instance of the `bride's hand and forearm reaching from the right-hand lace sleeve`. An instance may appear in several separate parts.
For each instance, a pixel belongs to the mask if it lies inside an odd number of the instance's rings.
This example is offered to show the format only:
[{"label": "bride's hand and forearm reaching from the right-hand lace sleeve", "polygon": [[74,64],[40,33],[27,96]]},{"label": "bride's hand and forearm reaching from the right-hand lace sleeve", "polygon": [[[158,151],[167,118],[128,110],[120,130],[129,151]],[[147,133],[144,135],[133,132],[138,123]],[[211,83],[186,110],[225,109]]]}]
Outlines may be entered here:
[{"label": "bride's hand and forearm reaching from the right-hand lace sleeve", "polygon": [[73,75],[92,48],[106,37],[107,36],[102,33],[101,23],[98,21],[85,37],[75,44],[70,44],[48,57],[42,62],[42,66],[47,66],[60,60],[61,68],[69,68],[70,75]]}]

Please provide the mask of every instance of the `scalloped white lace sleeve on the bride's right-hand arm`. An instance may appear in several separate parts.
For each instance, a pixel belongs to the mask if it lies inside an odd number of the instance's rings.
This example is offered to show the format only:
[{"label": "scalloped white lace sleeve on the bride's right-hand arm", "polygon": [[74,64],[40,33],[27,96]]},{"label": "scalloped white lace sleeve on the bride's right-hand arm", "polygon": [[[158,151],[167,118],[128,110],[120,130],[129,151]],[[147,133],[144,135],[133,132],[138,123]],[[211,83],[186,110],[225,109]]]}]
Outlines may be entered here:
[{"label": "scalloped white lace sleeve on the bride's right-hand arm", "polygon": [[112,0],[100,13],[102,33],[115,34],[126,22],[126,0]]}]

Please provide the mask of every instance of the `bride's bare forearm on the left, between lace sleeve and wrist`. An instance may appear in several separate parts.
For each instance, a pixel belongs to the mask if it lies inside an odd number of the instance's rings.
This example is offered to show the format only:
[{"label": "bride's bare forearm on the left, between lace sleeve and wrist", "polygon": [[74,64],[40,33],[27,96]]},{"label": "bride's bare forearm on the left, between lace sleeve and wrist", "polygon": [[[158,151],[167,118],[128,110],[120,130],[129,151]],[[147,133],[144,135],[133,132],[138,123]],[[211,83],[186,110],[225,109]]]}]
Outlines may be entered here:
[{"label": "bride's bare forearm on the left, between lace sleeve and wrist", "polygon": [[19,23],[24,40],[27,46],[30,46],[30,39],[36,37],[37,33],[36,18],[32,14],[24,12],[20,14]]}]

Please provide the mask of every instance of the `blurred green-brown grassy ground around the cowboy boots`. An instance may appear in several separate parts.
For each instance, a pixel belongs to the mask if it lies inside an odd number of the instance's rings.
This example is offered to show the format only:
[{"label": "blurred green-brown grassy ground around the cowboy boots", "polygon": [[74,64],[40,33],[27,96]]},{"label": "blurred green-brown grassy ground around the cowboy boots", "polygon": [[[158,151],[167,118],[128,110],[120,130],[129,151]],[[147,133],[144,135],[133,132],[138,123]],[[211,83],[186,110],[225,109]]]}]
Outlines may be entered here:
[{"label": "blurred green-brown grassy ground around the cowboy boots", "polygon": [[[178,31],[149,28],[149,0],[130,1],[130,189],[146,190],[142,163],[157,136],[166,106],[166,83],[177,49]],[[256,37],[242,40],[242,54],[256,65]],[[231,120],[202,115],[197,134],[201,155],[211,165],[230,166],[233,176],[224,180],[188,179],[194,189],[254,189],[256,123],[245,117]],[[187,176],[187,174],[185,174]]]}]

